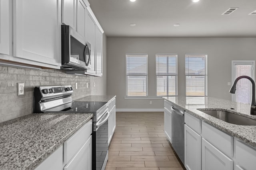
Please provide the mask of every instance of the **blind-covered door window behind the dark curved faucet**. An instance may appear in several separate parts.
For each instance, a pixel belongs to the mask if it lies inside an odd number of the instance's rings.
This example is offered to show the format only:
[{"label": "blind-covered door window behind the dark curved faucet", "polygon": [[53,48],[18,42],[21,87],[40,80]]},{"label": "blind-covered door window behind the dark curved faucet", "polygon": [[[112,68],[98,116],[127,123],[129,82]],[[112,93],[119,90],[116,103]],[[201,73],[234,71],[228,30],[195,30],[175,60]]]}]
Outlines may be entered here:
[{"label": "blind-covered door window behind the dark curved faucet", "polygon": [[[232,82],[239,76],[249,76],[254,80],[255,61],[232,61]],[[252,83],[246,78],[240,79],[236,84],[236,93],[232,100],[250,104],[252,97]]]}]

